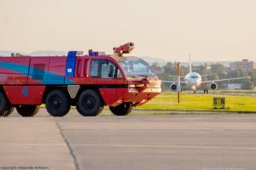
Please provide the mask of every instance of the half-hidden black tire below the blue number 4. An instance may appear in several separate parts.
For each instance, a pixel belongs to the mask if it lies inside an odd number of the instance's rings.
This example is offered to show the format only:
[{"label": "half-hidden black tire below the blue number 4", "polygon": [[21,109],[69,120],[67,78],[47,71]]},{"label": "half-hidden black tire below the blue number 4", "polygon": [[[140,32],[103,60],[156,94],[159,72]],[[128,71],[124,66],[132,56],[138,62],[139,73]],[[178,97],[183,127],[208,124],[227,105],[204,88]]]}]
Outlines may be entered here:
[{"label": "half-hidden black tire below the blue number 4", "polygon": [[40,109],[39,105],[19,105],[16,110],[20,116],[35,116]]}]

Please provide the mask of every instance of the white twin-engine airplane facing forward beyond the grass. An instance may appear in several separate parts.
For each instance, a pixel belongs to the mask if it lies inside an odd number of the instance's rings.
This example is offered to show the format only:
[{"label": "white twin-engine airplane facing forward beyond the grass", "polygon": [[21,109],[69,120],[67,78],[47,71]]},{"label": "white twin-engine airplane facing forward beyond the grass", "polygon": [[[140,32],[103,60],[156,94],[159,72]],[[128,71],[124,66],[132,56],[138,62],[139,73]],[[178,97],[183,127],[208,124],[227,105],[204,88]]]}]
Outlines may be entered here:
[{"label": "white twin-engine airplane facing forward beyond the grass", "polygon": [[[211,75],[200,75],[197,72],[193,72],[192,71],[192,65],[191,65],[191,60],[190,60],[190,56],[189,56],[189,73],[185,76],[182,77],[184,78],[184,82],[181,82],[179,79],[177,80],[177,82],[172,82],[172,81],[161,81],[161,82],[167,82],[167,83],[172,83],[170,88],[173,91],[177,91],[178,88],[178,82],[180,82],[180,84],[185,84],[187,87],[191,88],[194,91],[194,94],[196,94],[196,88],[199,87],[201,84],[206,84],[210,83],[210,88],[212,88],[212,90],[215,90],[218,88],[218,84],[216,82],[224,82],[224,81],[230,81],[230,80],[241,80],[241,79],[247,79],[249,77],[237,77],[237,78],[227,78],[227,79],[218,79],[218,80],[208,80],[208,81],[202,81],[201,77],[207,77],[207,76],[211,76]],[[177,76],[174,76],[177,77]],[[179,78],[179,77],[177,77]],[[208,89],[205,88],[204,89],[204,93],[208,94]]]}]

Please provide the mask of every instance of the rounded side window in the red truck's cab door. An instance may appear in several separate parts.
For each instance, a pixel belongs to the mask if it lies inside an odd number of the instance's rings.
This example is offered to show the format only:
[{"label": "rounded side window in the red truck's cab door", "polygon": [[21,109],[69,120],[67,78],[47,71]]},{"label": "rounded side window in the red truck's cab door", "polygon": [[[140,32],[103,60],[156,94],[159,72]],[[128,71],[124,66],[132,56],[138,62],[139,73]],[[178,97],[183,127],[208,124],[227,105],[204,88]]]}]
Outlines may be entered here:
[{"label": "rounded side window in the red truck's cab door", "polygon": [[117,67],[112,62],[105,60],[101,64],[101,77],[114,78],[116,75]]}]

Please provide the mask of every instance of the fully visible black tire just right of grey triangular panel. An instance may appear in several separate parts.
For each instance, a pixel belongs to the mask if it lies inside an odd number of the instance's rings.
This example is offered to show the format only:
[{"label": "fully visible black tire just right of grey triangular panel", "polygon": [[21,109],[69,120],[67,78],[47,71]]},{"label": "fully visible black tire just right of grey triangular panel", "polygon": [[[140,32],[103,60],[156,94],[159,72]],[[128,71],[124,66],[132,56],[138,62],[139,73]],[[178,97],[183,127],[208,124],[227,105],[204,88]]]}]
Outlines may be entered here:
[{"label": "fully visible black tire just right of grey triangular panel", "polygon": [[85,90],[79,96],[77,110],[82,116],[97,116],[103,110],[102,99],[94,90]]}]

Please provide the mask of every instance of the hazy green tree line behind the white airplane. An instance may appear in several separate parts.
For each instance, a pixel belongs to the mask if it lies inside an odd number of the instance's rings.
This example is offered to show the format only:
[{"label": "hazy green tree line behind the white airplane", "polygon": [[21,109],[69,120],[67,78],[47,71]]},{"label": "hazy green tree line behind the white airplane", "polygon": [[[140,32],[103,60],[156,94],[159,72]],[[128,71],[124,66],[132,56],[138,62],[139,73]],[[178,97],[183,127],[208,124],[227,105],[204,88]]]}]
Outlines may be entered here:
[{"label": "hazy green tree line behind the white airplane", "polygon": [[[160,77],[161,80],[169,80],[177,82],[177,62],[168,62],[164,66],[160,66],[157,62],[154,62],[152,68]],[[236,77],[250,77],[249,79],[242,80],[232,80],[226,82],[218,82],[218,88],[224,89],[227,88],[228,83],[241,83],[241,89],[253,89],[256,84],[256,70],[252,71],[243,71],[241,69],[232,71],[229,67],[225,67],[221,64],[212,64],[212,65],[198,65],[193,67],[192,70],[198,72],[201,75],[210,75],[208,77],[202,77],[202,81],[206,80],[216,80],[216,79],[225,79],[225,78],[236,78]],[[182,77],[185,77],[189,73],[189,66],[181,65],[181,74]],[[183,81],[183,80],[181,80]],[[170,90],[170,83],[162,83],[163,90]],[[199,89],[205,88],[204,85],[201,85]],[[187,90],[183,86],[184,90]]]}]

